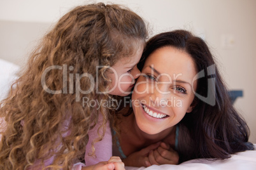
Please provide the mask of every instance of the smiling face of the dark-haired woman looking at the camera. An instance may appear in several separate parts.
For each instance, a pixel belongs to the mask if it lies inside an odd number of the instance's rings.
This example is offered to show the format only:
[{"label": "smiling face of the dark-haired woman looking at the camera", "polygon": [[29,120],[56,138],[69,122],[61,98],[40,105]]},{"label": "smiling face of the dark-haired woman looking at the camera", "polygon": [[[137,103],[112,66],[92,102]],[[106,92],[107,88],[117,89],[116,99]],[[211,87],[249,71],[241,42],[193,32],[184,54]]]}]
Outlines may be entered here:
[{"label": "smiling face of the dark-haired woman looking at the camera", "polygon": [[167,46],[148,56],[132,93],[139,129],[158,134],[191,112],[196,74],[190,55],[179,49]]}]

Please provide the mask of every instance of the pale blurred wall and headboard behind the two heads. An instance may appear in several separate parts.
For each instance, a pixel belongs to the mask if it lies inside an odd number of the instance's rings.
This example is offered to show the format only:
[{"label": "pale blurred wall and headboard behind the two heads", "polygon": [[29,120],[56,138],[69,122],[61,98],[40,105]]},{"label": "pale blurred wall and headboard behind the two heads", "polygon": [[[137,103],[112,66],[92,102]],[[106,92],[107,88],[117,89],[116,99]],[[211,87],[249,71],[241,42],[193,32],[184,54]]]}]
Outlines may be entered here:
[{"label": "pale blurred wall and headboard behind the two heads", "polygon": [[62,15],[77,5],[98,2],[131,8],[148,24],[150,37],[173,29],[202,37],[228,88],[243,91],[234,105],[248,122],[250,141],[256,143],[255,0],[1,0],[0,59],[24,66],[38,40]]}]

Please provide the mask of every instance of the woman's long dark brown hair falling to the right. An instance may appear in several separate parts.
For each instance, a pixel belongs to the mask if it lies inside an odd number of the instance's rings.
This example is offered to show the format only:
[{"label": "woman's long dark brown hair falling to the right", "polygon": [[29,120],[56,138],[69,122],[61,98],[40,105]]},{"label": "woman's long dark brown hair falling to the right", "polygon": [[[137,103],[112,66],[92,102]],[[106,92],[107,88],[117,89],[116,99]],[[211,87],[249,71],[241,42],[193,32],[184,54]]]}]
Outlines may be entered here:
[{"label": "woman's long dark brown hair falling to the right", "polygon": [[[196,158],[227,159],[236,152],[253,150],[252,143],[248,142],[249,128],[232,105],[215,59],[203,39],[186,30],[158,34],[146,43],[138,69],[142,70],[146,58],[153,51],[164,46],[185,51],[194,60],[197,72],[205,75],[197,79],[192,112],[180,122],[187,127],[192,143],[179,142],[192,145],[194,149],[192,155],[180,155],[181,162]],[[210,98],[206,102],[207,97]]]}]

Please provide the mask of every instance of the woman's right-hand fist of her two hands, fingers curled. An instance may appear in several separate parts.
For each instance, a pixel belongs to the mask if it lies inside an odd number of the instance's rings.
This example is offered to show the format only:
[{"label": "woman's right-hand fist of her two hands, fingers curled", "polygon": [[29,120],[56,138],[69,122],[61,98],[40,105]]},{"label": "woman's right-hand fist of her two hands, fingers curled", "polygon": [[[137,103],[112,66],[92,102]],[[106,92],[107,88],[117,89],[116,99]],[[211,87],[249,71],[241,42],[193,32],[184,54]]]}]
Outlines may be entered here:
[{"label": "woman's right-hand fist of her two hands, fingers curled", "polygon": [[173,150],[169,145],[161,142],[157,149],[150,151],[148,160],[152,165],[178,164],[179,155],[178,152]]}]

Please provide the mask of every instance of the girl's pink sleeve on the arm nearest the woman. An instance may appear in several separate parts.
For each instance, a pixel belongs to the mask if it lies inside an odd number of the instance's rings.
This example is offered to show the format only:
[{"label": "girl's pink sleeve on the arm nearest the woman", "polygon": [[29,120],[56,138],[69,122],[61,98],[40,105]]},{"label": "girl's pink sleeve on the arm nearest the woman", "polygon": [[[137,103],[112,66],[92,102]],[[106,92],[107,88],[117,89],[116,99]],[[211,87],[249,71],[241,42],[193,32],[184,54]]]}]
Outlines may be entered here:
[{"label": "girl's pink sleeve on the arm nearest the woman", "polygon": [[[112,156],[112,135],[110,129],[110,122],[108,121],[106,124],[106,133],[103,136],[103,140],[98,141],[94,144],[95,147],[95,155],[96,157],[90,156],[92,153],[92,141],[98,137],[97,129],[101,126],[102,123],[102,115],[99,114],[99,121],[94,127],[89,131],[89,141],[86,146],[85,152],[85,164],[86,166],[91,166],[97,164],[102,161],[108,161]],[[100,131],[102,133],[102,131]]]}]

